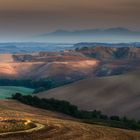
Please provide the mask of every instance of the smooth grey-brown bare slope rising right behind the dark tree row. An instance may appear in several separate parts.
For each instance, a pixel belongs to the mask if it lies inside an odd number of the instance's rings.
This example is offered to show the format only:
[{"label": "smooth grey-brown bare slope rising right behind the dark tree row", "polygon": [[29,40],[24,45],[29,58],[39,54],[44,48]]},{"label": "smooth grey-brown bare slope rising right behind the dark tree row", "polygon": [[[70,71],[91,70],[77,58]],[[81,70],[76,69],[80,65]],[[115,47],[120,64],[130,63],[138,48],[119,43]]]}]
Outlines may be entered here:
[{"label": "smooth grey-brown bare slope rising right behind the dark tree row", "polygon": [[140,118],[140,71],[90,78],[38,94],[40,98],[67,100],[84,110],[101,110],[108,115]]}]

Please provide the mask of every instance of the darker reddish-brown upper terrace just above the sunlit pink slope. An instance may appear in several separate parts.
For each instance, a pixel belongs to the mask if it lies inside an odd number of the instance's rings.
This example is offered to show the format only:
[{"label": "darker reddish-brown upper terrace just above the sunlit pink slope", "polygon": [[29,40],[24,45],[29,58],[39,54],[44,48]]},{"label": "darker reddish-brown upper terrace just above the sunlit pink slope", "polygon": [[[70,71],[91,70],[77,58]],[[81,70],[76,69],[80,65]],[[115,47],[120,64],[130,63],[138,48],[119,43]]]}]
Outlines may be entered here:
[{"label": "darker reddish-brown upper terrace just above the sunlit pink slope", "polygon": [[64,52],[39,52],[30,54],[14,54],[13,59],[15,62],[67,62],[87,60],[85,55],[75,51]]}]

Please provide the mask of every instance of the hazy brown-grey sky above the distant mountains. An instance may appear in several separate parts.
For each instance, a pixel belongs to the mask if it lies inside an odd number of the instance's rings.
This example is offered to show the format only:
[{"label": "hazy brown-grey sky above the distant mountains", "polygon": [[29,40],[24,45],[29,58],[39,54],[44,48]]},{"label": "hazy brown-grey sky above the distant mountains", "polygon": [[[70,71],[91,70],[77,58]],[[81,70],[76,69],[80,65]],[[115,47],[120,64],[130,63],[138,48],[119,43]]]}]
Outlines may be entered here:
[{"label": "hazy brown-grey sky above the distant mountains", "polygon": [[140,0],[0,0],[0,40],[57,29],[125,27],[140,31]]}]

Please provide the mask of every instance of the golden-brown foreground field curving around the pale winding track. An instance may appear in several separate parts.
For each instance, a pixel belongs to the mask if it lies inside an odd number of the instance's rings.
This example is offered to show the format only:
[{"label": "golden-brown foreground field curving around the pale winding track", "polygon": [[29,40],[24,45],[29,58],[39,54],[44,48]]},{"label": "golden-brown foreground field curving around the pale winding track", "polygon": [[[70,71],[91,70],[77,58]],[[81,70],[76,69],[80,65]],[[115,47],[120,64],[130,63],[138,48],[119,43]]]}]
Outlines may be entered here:
[{"label": "golden-brown foreground field curving around the pale winding track", "polygon": [[0,116],[30,119],[44,124],[42,130],[0,136],[0,140],[139,140],[140,132],[89,125],[66,115],[36,109],[13,100],[0,101]]}]

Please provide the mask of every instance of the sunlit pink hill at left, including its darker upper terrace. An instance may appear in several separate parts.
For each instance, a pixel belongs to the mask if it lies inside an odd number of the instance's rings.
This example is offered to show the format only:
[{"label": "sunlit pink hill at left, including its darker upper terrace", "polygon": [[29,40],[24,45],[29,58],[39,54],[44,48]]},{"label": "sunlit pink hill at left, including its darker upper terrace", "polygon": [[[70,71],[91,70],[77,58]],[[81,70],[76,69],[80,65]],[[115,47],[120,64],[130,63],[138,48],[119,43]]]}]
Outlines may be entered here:
[{"label": "sunlit pink hill at left, including its darker upper terrace", "polygon": [[94,75],[99,61],[76,52],[0,55],[0,78],[75,81]]}]

